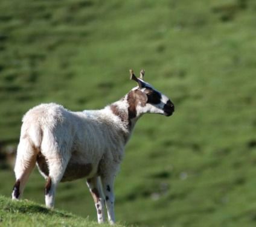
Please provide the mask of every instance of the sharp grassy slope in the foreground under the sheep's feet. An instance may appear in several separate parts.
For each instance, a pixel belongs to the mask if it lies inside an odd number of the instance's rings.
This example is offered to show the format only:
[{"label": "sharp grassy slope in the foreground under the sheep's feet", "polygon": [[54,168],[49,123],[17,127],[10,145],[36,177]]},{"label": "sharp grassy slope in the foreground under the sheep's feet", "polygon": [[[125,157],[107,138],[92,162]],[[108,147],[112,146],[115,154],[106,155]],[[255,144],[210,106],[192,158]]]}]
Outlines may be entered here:
[{"label": "sharp grassy slope in the foreground under the sheep's feet", "polygon": [[[65,211],[48,210],[31,201],[12,202],[11,199],[0,196],[0,225],[1,227],[96,227],[98,223]],[[104,224],[101,226],[108,227],[110,225]],[[117,227],[124,227],[124,225],[118,224]]]}]

